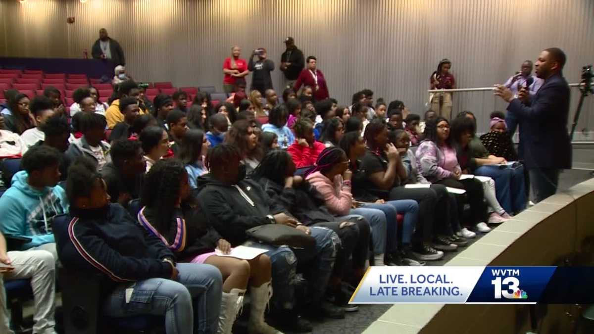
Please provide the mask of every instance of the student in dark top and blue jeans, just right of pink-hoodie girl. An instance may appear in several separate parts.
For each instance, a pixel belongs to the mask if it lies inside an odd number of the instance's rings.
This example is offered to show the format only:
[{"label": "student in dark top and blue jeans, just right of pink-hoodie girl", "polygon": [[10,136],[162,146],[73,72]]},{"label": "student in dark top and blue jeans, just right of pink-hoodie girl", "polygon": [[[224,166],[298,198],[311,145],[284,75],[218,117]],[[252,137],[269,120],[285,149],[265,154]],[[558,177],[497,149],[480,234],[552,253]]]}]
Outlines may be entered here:
[{"label": "student in dark top and blue jeans, just right of pink-hoodie girl", "polygon": [[[413,259],[412,234],[418,223],[419,204],[414,200],[385,201],[370,191],[365,185],[367,181],[365,171],[359,169],[359,159],[365,155],[365,141],[356,131],[346,133],[340,146],[349,158],[349,168],[353,172],[352,192],[353,197],[360,203],[366,203],[365,207],[380,209],[386,215],[387,225],[387,246],[388,262],[397,265],[422,266],[424,262]],[[373,203],[373,204],[370,204]],[[395,213],[403,215],[402,240],[397,240],[397,222]]]}]

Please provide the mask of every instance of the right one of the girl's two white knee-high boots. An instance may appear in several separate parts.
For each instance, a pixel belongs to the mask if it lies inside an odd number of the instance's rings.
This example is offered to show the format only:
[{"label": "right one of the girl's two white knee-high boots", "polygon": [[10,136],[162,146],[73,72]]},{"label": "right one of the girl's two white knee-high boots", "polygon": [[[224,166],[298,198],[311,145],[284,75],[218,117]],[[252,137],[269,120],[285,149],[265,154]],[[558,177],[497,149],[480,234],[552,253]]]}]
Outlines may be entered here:
[{"label": "right one of the girl's two white knee-high boots", "polygon": [[264,312],[266,305],[272,297],[272,285],[266,282],[257,288],[252,286],[249,288],[249,321],[248,333],[250,334],[282,334],[280,330],[270,326],[264,322]]}]

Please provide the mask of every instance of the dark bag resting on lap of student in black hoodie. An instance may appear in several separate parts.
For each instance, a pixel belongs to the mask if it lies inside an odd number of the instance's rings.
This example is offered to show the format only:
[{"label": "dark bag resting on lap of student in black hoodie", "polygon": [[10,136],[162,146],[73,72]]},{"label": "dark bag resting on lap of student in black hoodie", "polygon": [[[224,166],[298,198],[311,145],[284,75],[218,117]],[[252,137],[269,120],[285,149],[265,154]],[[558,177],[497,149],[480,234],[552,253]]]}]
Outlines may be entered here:
[{"label": "dark bag resting on lap of student in black hoodie", "polygon": [[315,239],[296,228],[282,224],[265,224],[246,231],[248,237],[269,245],[287,245],[292,248],[314,248]]}]

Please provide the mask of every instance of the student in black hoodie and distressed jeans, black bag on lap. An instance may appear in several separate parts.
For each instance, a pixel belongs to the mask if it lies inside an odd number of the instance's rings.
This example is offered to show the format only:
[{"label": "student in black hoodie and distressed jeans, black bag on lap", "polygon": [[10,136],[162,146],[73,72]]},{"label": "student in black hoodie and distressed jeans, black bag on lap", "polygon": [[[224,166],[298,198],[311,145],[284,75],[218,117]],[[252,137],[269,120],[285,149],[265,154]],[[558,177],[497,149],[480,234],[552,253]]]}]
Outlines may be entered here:
[{"label": "student in black hoodie and distressed jeans, black bag on lap", "polygon": [[[245,165],[241,163],[239,150],[227,143],[213,147],[208,152],[206,167],[210,174],[198,178],[198,203],[206,213],[207,220],[222,238],[232,246],[246,244],[268,250],[272,262],[273,307],[276,327],[282,326],[292,332],[309,332],[311,324],[298,317],[293,310],[295,303],[296,266],[311,270],[309,285],[312,303],[311,314],[344,317],[342,310],[323,303],[328,279],[336,254],[335,240],[338,237],[327,228],[308,228],[292,218],[285,209],[273,203],[266,192],[251,179],[244,179]],[[315,249],[304,254],[287,246],[273,246],[248,241],[245,231],[255,226],[280,223],[295,227],[315,238]],[[309,272],[308,270],[308,272]]]}]

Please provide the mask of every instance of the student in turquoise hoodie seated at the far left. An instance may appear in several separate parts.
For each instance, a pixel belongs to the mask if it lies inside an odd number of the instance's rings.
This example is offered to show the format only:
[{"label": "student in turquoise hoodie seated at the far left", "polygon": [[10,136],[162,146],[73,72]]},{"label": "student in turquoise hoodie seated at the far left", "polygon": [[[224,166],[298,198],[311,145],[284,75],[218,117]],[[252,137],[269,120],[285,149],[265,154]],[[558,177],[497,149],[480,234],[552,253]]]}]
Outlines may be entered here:
[{"label": "student in turquoise hoodie seated at the far left", "polygon": [[56,256],[53,218],[68,211],[60,181],[60,153],[53,147],[31,147],[23,156],[23,171],[12,177],[12,185],[0,197],[0,229],[5,235],[31,238],[21,250],[46,250]]}]

